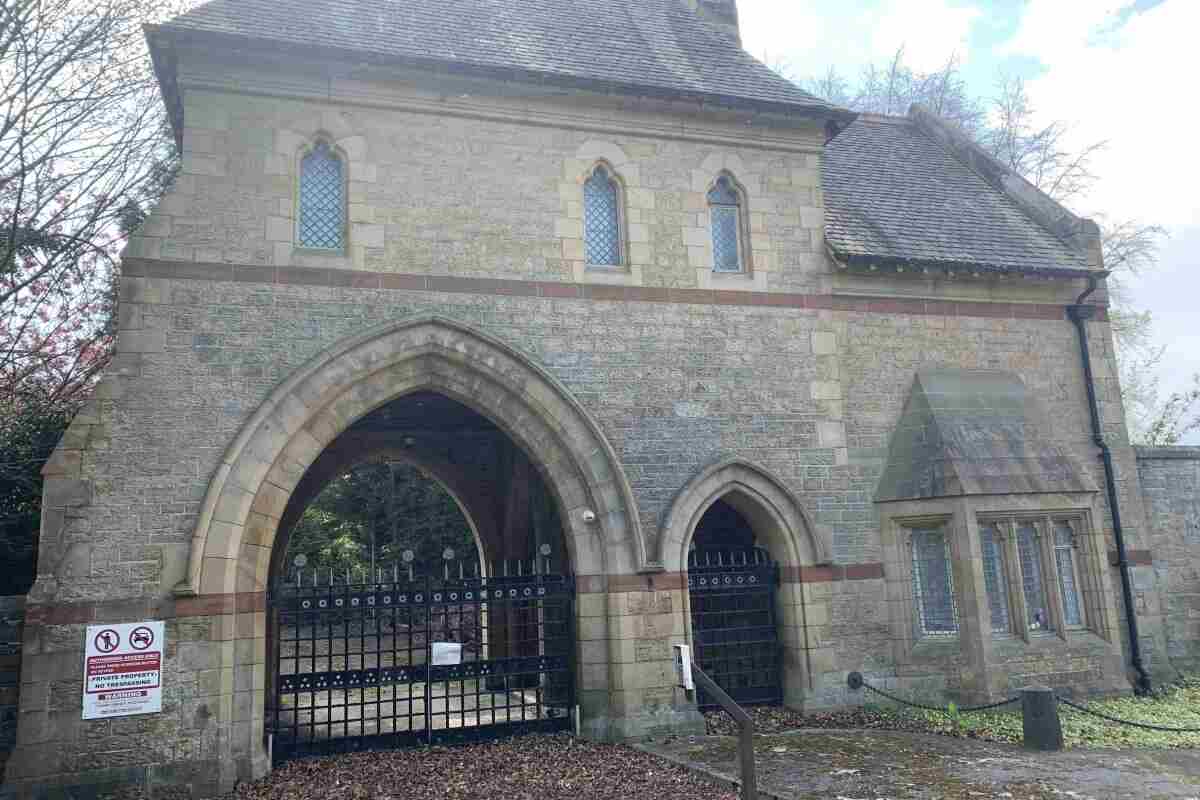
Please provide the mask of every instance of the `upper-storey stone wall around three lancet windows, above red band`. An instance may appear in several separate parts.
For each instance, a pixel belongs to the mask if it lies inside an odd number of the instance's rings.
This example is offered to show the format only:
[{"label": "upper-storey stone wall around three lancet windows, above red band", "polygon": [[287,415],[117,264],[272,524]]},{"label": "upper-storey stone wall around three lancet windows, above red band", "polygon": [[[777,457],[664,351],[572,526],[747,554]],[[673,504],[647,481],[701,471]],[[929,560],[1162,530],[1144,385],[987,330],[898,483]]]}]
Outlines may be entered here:
[{"label": "upper-storey stone wall around three lancet windows, above red band", "polygon": [[[194,82],[214,79],[194,68]],[[260,80],[234,74],[246,88]],[[322,100],[185,94],[184,173],[128,255],[733,289],[810,288],[823,269],[817,126],[790,134],[787,150],[769,150],[733,144],[737,124],[713,125],[721,144],[612,136],[506,121],[499,109],[481,118],[330,103],[328,84],[302,71],[293,79]],[[379,90],[348,83],[343,91],[378,98]],[[347,164],[344,257],[294,246],[295,175],[317,137]],[[582,185],[601,160],[624,187],[625,269],[583,261]],[[712,273],[704,196],[721,170],[748,196],[748,276]]]}]

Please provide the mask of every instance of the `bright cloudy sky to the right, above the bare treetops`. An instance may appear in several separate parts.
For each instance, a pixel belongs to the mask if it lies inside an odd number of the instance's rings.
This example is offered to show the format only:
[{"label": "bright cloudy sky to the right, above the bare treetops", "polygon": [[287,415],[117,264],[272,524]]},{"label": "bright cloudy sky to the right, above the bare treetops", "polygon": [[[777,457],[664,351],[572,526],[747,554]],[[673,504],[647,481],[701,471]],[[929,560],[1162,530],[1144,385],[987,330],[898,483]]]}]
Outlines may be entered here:
[{"label": "bright cloudy sky to the right, above the bare treetops", "polygon": [[[1075,203],[1166,227],[1158,267],[1133,284],[1166,345],[1162,385],[1200,372],[1200,0],[738,0],[748,50],[794,76],[847,77],[904,46],[910,66],[958,54],[974,94],[1001,71],[1025,77],[1038,116],[1106,140],[1100,181]],[[1194,438],[1200,443],[1200,437]]]}]

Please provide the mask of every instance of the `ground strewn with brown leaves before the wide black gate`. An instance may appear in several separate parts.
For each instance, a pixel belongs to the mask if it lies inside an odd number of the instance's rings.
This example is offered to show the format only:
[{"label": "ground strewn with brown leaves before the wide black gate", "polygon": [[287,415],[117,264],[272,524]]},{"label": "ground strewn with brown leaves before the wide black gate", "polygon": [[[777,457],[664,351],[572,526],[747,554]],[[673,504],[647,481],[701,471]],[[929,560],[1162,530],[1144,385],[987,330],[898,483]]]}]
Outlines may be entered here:
[{"label": "ground strewn with brown leaves before the wide black gate", "polygon": [[292,762],[228,800],[736,800],[684,768],[566,734]]}]

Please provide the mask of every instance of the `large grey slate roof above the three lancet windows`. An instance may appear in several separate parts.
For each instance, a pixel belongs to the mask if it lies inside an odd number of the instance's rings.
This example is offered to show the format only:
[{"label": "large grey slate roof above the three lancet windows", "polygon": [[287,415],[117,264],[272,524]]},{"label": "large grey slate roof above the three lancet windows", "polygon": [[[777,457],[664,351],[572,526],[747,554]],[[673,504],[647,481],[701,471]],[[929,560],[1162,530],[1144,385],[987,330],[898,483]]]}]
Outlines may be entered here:
[{"label": "large grey slate roof above the three lancet windows", "polygon": [[212,0],[157,29],[830,109],[682,0]]}]

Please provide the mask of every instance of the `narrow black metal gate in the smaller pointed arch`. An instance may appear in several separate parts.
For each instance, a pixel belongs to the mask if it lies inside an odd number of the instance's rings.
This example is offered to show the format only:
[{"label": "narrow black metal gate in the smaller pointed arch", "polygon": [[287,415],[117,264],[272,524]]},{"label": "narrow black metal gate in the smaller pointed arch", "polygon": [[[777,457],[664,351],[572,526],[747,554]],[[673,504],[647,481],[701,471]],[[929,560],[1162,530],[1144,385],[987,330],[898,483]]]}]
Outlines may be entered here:
[{"label": "narrow black metal gate in the smaller pointed arch", "polygon": [[[692,551],[688,559],[694,657],[742,705],[782,702],[775,589],[779,567],[761,548]],[[718,708],[703,691],[701,709]]]}]

